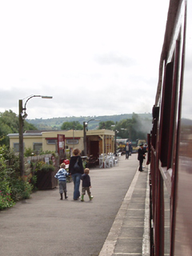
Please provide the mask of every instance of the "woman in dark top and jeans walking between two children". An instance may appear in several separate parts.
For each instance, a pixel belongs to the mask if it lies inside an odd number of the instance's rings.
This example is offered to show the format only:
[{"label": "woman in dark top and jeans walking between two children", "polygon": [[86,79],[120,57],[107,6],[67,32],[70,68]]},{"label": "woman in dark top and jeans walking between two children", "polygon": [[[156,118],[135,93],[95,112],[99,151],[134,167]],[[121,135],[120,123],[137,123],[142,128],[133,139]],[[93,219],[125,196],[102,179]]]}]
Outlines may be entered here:
[{"label": "woman in dark top and jeans walking between two children", "polygon": [[[74,156],[70,158],[70,166],[69,166],[69,173],[71,174],[71,177],[74,181],[74,200],[78,200],[80,197],[80,181],[82,174],[84,174],[83,166],[82,166],[82,158],[80,157],[80,150],[74,149],[73,151]],[[75,164],[78,164],[77,167],[75,167]]]}]

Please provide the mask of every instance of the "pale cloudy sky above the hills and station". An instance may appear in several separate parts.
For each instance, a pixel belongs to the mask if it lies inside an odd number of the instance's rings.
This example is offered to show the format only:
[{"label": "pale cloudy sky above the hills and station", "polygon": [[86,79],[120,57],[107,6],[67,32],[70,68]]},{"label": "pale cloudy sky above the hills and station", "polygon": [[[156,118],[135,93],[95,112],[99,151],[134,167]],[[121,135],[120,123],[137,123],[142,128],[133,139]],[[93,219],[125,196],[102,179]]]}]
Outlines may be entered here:
[{"label": "pale cloudy sky above the hills and station", "polygon": [[168,0],[0,0],[0,112],[152,111]]}]

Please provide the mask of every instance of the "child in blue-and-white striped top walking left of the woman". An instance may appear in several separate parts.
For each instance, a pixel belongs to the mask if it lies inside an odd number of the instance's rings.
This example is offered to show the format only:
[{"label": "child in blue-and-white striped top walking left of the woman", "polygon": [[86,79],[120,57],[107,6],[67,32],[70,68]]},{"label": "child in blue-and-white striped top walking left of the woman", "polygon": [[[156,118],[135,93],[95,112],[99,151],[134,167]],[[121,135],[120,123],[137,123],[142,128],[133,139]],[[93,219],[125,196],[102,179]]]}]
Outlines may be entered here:
[{"label": "child in blue-and-white striped top walking left of the woman", "polygon": [[62,200],[62,194],[64,192],[65,198],[68,198],[66,196],[66,176],[69,175],[69,173],[66,171],[66,165],[62,162],[60,169],[58,170],[58,173],[55,174],[55,178],[58,178],[58,186],[59,186],[59,193],[61,195],[60,200]]}]

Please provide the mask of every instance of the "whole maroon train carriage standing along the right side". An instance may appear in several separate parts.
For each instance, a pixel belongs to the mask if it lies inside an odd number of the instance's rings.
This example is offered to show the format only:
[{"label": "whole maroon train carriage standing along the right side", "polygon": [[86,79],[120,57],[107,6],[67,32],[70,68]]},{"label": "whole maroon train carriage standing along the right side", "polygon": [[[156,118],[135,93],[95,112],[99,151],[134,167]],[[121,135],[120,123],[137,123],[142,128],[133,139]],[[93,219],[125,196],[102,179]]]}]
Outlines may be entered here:
[{"label": "whole maroon train carriage standing along the right side", "polygon": [[150,134],[150,254],[192,255],[192,1],[170,0]]}]

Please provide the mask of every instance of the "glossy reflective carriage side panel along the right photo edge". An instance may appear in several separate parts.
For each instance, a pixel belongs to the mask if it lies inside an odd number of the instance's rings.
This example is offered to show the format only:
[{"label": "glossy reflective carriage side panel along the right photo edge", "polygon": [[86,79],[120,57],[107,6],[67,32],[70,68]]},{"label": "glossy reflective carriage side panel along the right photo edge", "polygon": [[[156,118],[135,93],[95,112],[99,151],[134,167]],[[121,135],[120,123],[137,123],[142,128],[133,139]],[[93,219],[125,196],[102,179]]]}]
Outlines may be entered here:
[{"label": "glossy reflective carriage side panel along the right photo edge", "polygon": [[178,138],[178,176],[174,255],[192,255],[192,2],[186,9],[186,52],[182,87],[181,129]]}]

